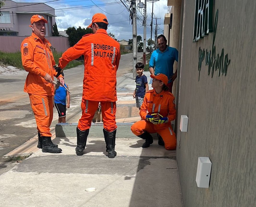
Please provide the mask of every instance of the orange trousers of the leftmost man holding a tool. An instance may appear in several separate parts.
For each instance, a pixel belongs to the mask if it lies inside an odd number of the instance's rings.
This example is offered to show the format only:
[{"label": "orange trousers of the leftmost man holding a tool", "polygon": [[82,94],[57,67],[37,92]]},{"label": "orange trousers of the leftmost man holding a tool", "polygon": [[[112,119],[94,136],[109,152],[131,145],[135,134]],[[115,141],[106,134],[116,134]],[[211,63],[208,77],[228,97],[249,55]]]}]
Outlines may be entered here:
[{"label": "orange trousers of the leftmost man holding a tool", "polygon": [[53,96],[29,93],[29,100],[35,115],[37,131],[41,136],[52,137],[50,126],[53,120]]}]

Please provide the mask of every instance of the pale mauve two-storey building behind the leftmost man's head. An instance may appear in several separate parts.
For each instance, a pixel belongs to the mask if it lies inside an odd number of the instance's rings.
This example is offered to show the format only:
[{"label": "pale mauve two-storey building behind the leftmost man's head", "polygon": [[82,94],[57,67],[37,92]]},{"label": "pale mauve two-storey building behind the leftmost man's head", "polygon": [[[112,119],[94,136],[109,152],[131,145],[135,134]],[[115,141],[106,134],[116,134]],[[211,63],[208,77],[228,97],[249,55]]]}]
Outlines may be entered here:
[{"label": "pale mauve two-storey building behind the leftmost man's head", "polygon": [[55,23],[54,8],[44,3],[17,3],[6,0],[1,8],[3,16],[0,16],[0,35],[30,36],[30,18],[34,14],[40,14],[47,21],[46,36],[52,36],[52,25]]}]

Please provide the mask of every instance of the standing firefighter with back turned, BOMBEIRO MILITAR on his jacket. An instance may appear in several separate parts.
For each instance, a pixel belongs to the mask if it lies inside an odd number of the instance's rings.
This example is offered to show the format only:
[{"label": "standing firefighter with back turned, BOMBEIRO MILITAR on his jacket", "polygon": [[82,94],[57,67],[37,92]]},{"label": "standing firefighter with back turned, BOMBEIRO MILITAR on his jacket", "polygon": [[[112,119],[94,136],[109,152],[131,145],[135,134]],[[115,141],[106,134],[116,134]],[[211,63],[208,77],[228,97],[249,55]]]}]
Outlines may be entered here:
[{"label": "standing firefighter with back turned, BOMBEIRO MILITAR on his jacket", "polygon": [[89,128],[94,113],[101,104],[103,134],[109,158],[116,156],[116,74],[120,60],[120,45],[107,34],[107,17],[95,14],[92,23],[93,34],[84,35],[75,46],[69,48],[59,59],[58,68],[64,68],[71,60],[85,57],[84,85],[82,95],[82,117],[77,134],[77,155],[82,155],[86,146]]}]

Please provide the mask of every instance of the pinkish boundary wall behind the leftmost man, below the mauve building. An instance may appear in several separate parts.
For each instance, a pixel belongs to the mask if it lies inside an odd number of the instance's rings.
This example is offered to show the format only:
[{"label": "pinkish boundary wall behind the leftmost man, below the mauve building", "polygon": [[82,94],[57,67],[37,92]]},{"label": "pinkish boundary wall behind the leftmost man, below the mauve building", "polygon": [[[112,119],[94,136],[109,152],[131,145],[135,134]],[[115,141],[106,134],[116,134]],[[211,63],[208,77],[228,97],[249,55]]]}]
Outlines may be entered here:
[{"label": "pinkish boundary wall behind the leftmost man, below the mauve building", "polygon": [[[24,36],[0,36],[0,51],[15,53],[21,51],[21,42]],[[65,52],[69,48],[67,37],[46,37],[57,52]]]}]

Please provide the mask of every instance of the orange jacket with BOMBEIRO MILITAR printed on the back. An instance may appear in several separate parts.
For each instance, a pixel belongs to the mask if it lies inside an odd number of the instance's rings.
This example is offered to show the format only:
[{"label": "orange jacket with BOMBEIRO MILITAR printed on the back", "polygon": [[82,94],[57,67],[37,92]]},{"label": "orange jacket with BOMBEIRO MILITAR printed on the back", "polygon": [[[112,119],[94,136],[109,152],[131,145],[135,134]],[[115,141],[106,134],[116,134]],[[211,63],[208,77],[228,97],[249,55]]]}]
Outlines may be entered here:
[{"label": "orange jacket with BOMBEIRO MILITAR printed on the back", "polygon": [[84,35],[59,59],[59,67],[85,57],[83,98],[92,101],[117,101],[116,73],[120,60],[120,44],[105,29]]}]

